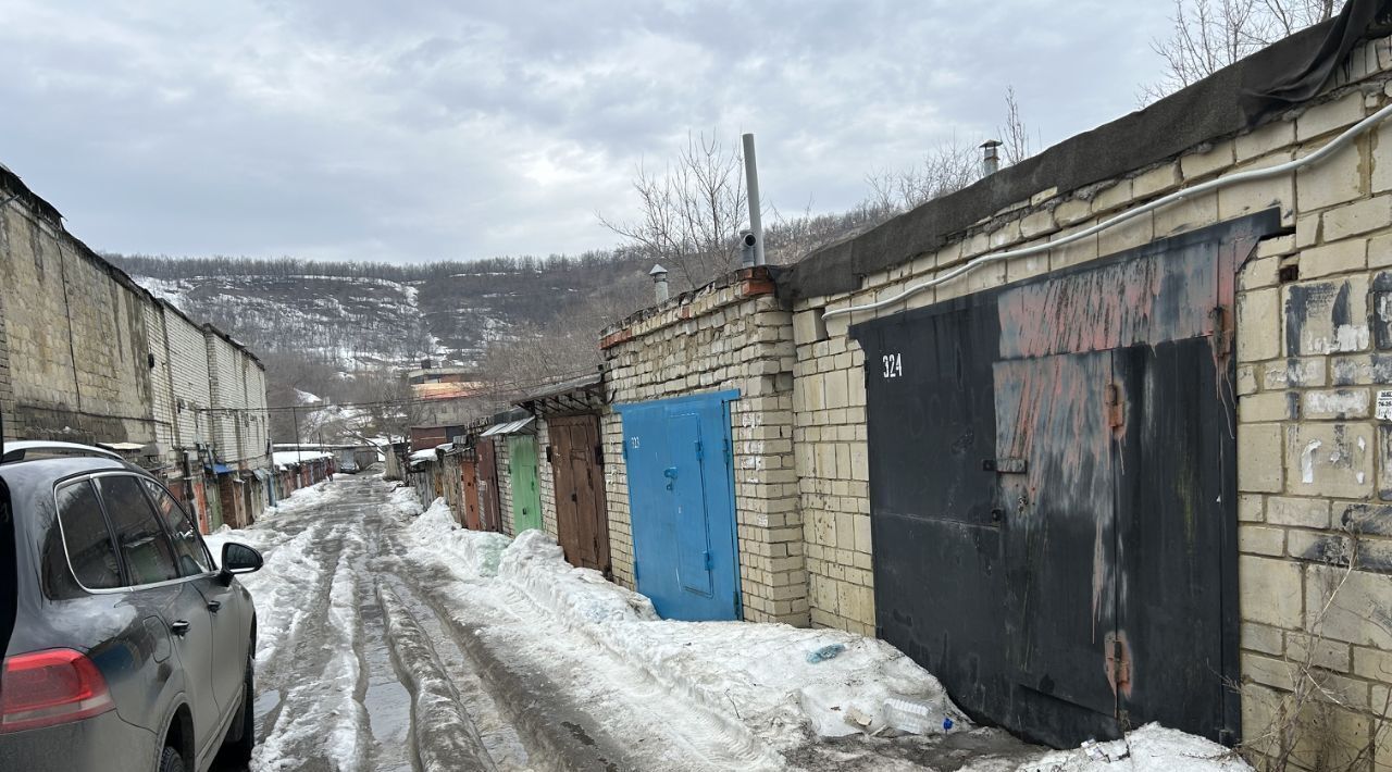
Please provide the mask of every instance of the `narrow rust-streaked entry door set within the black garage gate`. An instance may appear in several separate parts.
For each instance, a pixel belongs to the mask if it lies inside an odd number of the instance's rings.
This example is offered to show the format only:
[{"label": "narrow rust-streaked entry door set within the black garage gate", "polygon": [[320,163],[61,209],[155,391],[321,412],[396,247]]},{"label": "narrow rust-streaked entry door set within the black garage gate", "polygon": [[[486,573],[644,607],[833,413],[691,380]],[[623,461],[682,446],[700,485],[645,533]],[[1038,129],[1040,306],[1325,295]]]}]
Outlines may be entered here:
[{"label": "narrow rust-streaked entry door set within the black garage gate", "polygon": [[1111,716],[1116,634],[1111,352],[995,364],[1006,662],[1018,683]]}]

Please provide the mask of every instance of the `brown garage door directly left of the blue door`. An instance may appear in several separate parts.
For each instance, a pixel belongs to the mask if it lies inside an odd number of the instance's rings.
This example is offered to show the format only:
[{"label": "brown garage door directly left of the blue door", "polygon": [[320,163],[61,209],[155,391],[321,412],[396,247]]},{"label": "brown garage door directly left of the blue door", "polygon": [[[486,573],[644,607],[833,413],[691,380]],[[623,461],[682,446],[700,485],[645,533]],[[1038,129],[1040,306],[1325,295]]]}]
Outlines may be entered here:
[{"label": "brown garage door directly left of the blue door", "polygon": [[555,480],[555,530],[565,559],[578,568],[610,573],[608,515],[599,463],[597,416],[548,419],[551,473]]}]

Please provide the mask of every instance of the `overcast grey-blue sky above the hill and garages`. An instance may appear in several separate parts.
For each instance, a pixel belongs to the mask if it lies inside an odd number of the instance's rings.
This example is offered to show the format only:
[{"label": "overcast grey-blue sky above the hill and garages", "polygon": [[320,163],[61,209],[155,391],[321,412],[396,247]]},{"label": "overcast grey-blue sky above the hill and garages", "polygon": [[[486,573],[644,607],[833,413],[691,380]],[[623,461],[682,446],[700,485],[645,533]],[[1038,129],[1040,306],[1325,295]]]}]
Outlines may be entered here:
[{"label": "overcast grey-blue sky above the hill and garages", "polygon": [[759,142],[767,203],[1136,107],[1168,3],[0,0],[0,163],[95,249],[429,260],[615,238],[640,160]]}]

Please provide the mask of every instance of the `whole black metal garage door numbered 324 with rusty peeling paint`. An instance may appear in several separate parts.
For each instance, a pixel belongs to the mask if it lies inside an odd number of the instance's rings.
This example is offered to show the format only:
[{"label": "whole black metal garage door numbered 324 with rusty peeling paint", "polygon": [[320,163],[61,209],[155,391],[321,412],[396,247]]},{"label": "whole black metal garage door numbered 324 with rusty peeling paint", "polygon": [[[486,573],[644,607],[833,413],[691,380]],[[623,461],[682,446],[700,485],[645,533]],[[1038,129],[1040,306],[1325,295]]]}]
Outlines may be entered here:
[{"label": "whole black metal garage door numbered 324 with rusty peeling paint", "polygon": [[1276,225],[852,328],[878,633],[977,718],[1236,737],[1233,277]]}]

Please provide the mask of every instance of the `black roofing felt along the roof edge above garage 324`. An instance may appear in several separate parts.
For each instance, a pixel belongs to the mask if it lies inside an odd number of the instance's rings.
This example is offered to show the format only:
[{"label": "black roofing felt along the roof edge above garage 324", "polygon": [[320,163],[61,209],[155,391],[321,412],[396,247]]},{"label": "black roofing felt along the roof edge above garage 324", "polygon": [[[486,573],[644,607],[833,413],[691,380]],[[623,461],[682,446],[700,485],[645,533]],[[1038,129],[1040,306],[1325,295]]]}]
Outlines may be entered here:
[{"label": "black roofing felt along the roof edge above garage 324", "polygon": [[934,199],[883,225],[825,246],[791,267],[778,293],[788,300],[853,292],[860,277],[947,245],[992,213],[1048,188],[1075,191],[1236,134],[1324,89],[1349,50],[1385,19],[1392,0],[1350,0],[1311,26],[1096,129],[974,185]]}]

